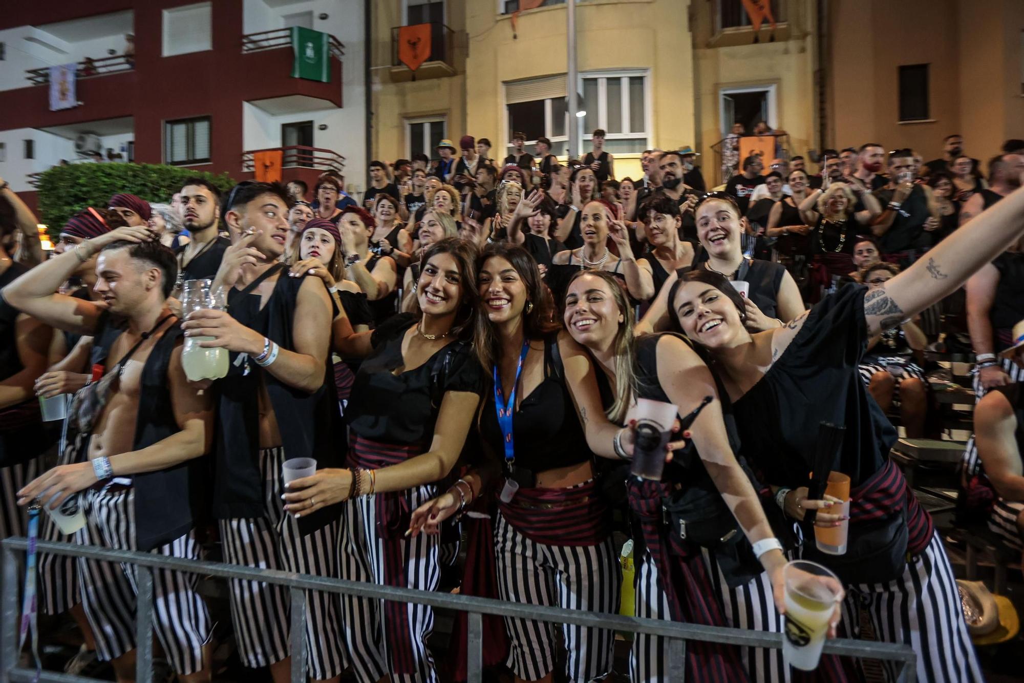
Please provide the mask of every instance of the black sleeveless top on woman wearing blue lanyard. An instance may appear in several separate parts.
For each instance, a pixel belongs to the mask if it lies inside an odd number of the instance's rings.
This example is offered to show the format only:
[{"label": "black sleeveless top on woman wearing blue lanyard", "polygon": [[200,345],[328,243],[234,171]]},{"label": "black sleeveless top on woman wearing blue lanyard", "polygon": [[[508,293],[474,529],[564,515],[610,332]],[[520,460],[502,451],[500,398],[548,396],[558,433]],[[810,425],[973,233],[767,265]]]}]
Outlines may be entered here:
[{"label": "black sleeveless top on woman wearing blue lanyard", "polygon": [[[544,340],[544,379],[522,397],[512,419],[516,467],[535,474],[578,465],[593,457],[565,384],[561,357],[554,349],[557,344],[557,334]],[[504,436],[495,410],[494,391],[488,391],[480,413],[480,436],[504,458]]]}]

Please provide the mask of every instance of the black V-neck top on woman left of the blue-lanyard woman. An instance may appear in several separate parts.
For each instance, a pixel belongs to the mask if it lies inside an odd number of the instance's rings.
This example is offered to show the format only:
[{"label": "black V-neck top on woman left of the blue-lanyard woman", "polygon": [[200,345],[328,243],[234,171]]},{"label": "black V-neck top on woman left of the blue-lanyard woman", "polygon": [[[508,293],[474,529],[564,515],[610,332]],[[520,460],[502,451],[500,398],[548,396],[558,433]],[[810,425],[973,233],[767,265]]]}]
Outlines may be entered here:
[{"label": "black V-neck top on woman left of the blue-lanyard woman", "polygon": [[374,330],[374,352],[362,361],[345,409],[349,429],[365,439],[426,447],[445,392],[483,394],[483,370],[468,342],[455,340],[423,365],[395,374],[401,340],[418,317],[403,313]]}]

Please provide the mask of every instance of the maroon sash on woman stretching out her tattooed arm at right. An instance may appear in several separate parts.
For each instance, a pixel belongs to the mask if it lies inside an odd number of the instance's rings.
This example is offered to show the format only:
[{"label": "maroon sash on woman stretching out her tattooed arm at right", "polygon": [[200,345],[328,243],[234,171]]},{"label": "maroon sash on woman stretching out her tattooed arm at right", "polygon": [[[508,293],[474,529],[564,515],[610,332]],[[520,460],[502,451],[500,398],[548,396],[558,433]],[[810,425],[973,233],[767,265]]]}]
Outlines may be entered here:
[{"label": "maroon sash on woman stretching out her tattooed arm at right", "polygon": [[850,524],[871,522],[903,511],[906,506],[908,538],[906,550],[921,555],[935,533],[935,524],[913,491],[906,485],[903,473],[892,460],[850,491]]}]

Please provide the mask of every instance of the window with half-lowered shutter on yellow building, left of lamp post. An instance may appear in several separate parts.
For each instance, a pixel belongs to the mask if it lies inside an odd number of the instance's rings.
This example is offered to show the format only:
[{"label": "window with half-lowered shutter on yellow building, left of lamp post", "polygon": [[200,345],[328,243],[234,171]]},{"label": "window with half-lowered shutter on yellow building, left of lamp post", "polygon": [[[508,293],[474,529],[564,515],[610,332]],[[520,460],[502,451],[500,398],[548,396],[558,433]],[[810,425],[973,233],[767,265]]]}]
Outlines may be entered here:
[{"label": "window with half-lowered shutter on yellow building, left of lamp post", "polygon": [[551,139],[551,153],[566,153],[568,104],[565,101],[565,76],[546,76],[505,84],[505,114],[508,130],[505,143],[512,153],[512,133],[526,135],[523,150],[536,154],[538,137]]}]

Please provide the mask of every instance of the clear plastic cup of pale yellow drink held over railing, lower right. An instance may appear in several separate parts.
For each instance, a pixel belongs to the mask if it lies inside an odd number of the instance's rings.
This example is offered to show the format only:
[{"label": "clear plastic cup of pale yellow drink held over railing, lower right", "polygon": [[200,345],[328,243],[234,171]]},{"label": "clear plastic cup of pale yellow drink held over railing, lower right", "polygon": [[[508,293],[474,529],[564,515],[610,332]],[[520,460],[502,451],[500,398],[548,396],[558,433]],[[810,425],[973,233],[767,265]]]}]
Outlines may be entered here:
[{"label": "clear plastic cup of pale yellow drink held over railing, lower right", "polygon": [[785,637],[782,658],[794,669],[814,671],[821,658],[828,620],[843,596],[836,574],[815,562],[795,560],[782,567],[785,582]]}]

